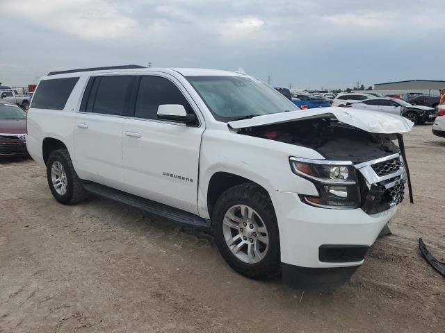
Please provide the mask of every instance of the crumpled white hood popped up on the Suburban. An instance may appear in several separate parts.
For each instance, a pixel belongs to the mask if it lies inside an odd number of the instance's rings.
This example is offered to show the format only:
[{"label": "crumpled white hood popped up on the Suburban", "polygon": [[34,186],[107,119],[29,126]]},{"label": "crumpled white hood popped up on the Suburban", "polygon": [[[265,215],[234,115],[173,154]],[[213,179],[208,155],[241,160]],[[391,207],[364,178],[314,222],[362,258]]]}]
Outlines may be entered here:
[{"label": "crumpled white hood popped up on the Suburban", "polygon": [[369,133],[406,133],[414,126],[412,121],[396,114],[357,110],[353,108],[318,108],[265,114],[264,116],[257,116],[250,119],[229,121],[228,125],[231,128],[247,128],[325,117],[337,118],[342,123],[347,123],[350,126],[360,128]]}]

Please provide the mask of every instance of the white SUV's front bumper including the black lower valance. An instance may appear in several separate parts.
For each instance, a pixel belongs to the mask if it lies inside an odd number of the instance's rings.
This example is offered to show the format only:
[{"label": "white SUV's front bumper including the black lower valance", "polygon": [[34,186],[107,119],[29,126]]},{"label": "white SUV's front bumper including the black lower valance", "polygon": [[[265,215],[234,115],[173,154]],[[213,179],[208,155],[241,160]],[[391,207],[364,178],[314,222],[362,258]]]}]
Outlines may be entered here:
[{"label": "white SUV's front bumper including the black lower valance", "polygon": [[[331,289],[347,282],[363,264],[364,253],[357,261],[326,261],[321,248],[326,244],[371,246],[397,207],[369,215],[361,208],[330,210],[302,203],[297,194],[270,193],[278,228],[284,284],[302,289]],[[365,251],[366,252],[366,251]]]}]

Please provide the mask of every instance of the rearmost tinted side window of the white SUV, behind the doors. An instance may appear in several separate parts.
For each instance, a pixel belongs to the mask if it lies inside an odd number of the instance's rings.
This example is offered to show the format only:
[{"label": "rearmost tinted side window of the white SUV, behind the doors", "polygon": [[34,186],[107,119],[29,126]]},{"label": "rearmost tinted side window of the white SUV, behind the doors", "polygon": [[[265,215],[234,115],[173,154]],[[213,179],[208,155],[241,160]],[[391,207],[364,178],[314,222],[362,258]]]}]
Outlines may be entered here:
[{"label": "rearmost tinted side window of the white SUV, behind the doors", "polygon": [[40,81],[31,108],[63,110],[78,80],[79,77]]}]

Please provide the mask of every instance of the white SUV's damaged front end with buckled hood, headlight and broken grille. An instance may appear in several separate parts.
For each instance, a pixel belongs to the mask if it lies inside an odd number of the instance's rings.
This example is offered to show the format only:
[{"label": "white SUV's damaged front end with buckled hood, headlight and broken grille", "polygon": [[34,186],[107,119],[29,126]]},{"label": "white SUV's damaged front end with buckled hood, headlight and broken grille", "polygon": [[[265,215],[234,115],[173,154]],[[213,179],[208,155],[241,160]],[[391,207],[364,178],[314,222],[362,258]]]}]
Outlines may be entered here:
[{"label": "white SUV's damaged front end with buckled hood, headlight and broken grille", "polygon": [[402,202],[407,180],[412,202],[401,135],[412,128],[412,122],[380,112],[330,109],[273,114],[274,119],[255,117],[229,126],[241,135],[304,146],[323,155],[325,160],[290,157],[293,172],[318,189],[319,196],[300,195],[308,205],[360,207],[366,214],[378,214]]}]

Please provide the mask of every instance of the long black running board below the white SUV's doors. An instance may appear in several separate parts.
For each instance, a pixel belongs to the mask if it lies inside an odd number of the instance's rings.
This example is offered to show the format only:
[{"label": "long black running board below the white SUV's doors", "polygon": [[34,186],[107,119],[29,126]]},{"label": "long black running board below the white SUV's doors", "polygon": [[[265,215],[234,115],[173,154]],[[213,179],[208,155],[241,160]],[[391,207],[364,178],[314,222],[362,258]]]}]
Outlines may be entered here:
[{"label": "long black running board below the white SUV's doors", "polygon": [[155,201],[141,198],[140,196],[134,196],[133,194],[118,189],[113,189],[95,182],[86,182],[83,184],[83,188],[97,196],[139,208],[150,214],[162,216],[177,223],[199,228],[210,228],[210,221],[202,219],[200,216],[185,212],[184,210],[178,210],[168,205],[163,205],[162,203],[156,203]]}]

